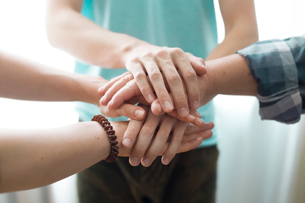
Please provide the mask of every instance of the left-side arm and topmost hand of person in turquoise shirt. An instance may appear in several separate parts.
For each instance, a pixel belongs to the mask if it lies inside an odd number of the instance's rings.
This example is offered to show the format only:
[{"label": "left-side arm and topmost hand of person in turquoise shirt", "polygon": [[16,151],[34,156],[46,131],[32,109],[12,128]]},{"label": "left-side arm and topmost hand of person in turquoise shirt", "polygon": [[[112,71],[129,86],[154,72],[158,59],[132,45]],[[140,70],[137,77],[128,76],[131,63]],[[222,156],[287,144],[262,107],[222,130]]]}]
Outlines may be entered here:
[{"label": "left-side arm and topmost hand of person in turquoise shirt", "polygon": [[[158,47],[135,37],[106,30],[82,16],[81,6],[82,0],[48,1],[46,28],[53,46],[86,63],[106,68],[126,67],[141,87],[144,98],[152,103],[155,92],[166,112],[172,111],[174,104],[179,115],[185,117],[189,114],[189,104],[193,109],[199,107],[196,73],[206,73],[202,59],[179,48]],[[169,84],[174,103],[163,83],[161,72]],[[146,79],[146,73],[154,92]],[[183,83],[187,94],[180,91]]]}]

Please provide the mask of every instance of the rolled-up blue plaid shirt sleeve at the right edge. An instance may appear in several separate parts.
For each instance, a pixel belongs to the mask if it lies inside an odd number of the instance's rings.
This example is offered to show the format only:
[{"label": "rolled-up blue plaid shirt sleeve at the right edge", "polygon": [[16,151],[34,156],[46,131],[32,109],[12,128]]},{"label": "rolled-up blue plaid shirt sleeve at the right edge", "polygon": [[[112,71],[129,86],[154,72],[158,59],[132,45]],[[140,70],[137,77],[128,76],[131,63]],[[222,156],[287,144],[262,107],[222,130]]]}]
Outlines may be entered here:
[{"label": "rolled-up blue plaid shirt sleeve at the right edge", "polygon": [[262,120],[298,122],[305,113],[305,35],[259,41],[237,53],[258,82]]}]

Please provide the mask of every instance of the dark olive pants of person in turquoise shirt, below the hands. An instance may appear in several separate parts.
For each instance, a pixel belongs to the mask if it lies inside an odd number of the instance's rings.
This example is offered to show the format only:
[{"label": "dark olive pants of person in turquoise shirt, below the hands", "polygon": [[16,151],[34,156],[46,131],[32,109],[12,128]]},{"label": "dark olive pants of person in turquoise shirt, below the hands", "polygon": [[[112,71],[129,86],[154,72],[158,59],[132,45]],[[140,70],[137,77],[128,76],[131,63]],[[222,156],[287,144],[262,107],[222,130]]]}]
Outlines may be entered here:
[{"label": "dark olive pants of person in turquoise shirt, below the hands", "polygon": [[164,166],[131,166],[128,157],[101,161],[78,173],[79,203],[214,203],[216,146],[176,154]]}]

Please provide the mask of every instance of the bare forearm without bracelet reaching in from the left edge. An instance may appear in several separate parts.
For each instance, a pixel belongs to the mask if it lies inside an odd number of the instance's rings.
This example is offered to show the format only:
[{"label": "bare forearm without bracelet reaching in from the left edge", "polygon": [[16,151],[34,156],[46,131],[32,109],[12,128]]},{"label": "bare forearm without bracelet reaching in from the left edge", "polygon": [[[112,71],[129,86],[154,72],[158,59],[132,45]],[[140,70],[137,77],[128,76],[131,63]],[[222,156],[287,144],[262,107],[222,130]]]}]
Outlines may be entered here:
[{"label": "bare forearm without bracelet reaching in from the left edge", "polygon": [[73,74],[0,51],[0,96],[97,104],[101,77]]}]

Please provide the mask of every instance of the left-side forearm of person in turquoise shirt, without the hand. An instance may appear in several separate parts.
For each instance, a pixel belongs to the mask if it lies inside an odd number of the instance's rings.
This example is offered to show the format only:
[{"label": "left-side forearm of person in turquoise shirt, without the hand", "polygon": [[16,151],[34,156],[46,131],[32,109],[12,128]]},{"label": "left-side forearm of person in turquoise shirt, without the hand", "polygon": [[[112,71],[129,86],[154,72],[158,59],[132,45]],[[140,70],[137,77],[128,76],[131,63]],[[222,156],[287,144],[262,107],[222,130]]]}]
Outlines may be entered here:
[{"label": "left-side forearm of person in turquoise shirt, without the hand", "polygon": [[81,5],[71,7],[52,0],[48,4],[46,30],[49,42],[81,61],[106,68],[123,68],[124,57],[130,50],[147,44],[98,26],[80,14]]}]

